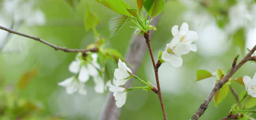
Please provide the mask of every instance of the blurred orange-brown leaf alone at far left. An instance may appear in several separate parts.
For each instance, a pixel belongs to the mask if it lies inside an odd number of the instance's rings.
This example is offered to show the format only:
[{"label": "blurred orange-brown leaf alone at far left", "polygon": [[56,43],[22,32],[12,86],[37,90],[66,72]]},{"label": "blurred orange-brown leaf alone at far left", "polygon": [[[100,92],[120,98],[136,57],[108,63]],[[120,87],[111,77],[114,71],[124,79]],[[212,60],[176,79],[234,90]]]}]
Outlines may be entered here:
[{"label": "blurred orange-brown leaf alone at far left", "polygon": [[28,85],[28,83],[37,75],[37,73],[38,73],[38,66],[35,69],[24,73],[21,76],[21,79],[19,79],[19,83],[18,83],[19,90],[23,90]]}]

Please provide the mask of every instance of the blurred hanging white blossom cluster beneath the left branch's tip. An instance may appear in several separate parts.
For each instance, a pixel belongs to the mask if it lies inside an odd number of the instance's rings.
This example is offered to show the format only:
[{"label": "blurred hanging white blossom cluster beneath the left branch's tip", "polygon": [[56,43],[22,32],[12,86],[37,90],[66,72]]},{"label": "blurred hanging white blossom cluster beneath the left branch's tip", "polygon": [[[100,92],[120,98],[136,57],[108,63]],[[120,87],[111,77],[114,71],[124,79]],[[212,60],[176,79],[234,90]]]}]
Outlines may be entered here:
[{"label": "blurred hanging white blossom cluster beneath the left branch's tip", "polygon": [[97,63],[98,55],[93,53],[87,56],[87,58],[89,57],[92,60],[84,60],[82,53],[78,53],[75,60],[69,66],[69,71],[75,75],[58,83],[58,85],[66,87],[68,94],[73,94],[78,90],[80,94],[86,95],[85,83],[90,77],[92,77],[95,83],[94,90],[97,93],[102,94],[104,89],[106,89],[105,87],[109,85],[109,82],[107,82],[104,87],[104,80],[99,72],[102,68]]}]

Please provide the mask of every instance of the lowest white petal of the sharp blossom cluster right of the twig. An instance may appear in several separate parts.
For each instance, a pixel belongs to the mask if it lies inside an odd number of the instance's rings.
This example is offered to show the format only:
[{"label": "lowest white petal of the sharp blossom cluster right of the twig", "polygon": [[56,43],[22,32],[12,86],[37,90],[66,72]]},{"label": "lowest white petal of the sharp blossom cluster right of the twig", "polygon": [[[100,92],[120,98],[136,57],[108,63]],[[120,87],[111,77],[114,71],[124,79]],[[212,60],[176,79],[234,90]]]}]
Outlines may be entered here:
[{"label": "lowest white petal of the sharp blossom cluster right of the twig", "polygon": [[175,68],[178,68],[182,65],[182,58],[181,56],[177,56],[175,54],[168,54],[167,51],[164,51],[162,54],[162,59],[164,61],[170,62],[171,65]]}]

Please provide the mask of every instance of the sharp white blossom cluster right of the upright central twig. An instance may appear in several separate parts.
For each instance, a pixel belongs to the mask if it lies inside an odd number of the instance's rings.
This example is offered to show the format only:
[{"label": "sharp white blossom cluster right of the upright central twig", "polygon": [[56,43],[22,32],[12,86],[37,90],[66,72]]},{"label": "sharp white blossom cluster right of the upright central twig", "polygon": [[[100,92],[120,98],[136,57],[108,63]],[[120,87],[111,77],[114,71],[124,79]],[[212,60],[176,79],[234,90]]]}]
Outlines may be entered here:
[{"label": "sharp white blossom cluster right of the upright central twig", "polygon": [[174,37],[162,53],[162,60],[170,62],[176,68],[182,65],[181,55],[188,54],[190,51],[197,51],[196,45],[191,43],[198,40],[198,34],[189,30],[187,23],[183,23],[180,30],[178,27],[177,25],[172,27],[171,33]]}]

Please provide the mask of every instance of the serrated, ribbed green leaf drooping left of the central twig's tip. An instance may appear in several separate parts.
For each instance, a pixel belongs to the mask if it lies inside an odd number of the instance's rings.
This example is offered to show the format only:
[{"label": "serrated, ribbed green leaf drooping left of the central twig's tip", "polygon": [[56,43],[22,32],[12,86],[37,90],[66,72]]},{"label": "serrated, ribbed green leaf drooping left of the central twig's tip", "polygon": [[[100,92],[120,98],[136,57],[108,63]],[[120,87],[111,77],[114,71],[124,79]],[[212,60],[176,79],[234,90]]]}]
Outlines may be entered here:
[{"label": "serrated, ribbed green leaf drooping left of the central twig's tip", "polygon": [[115,17],[112,17],[109,20],[109,30],[110,30],[110,36],[109,38],[113,37],[117,31],[124,26],[124,24],[129,20],[129,17],[126,15],[117,15]]}]

